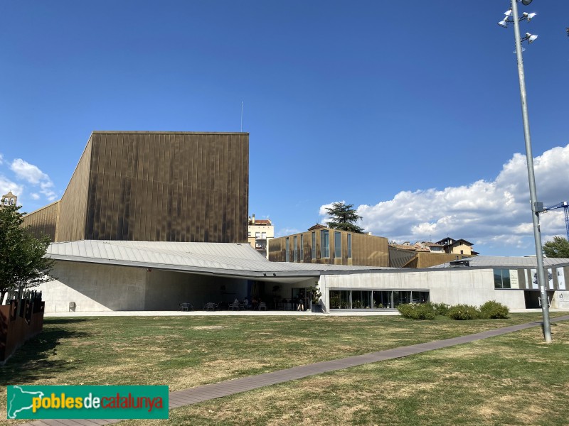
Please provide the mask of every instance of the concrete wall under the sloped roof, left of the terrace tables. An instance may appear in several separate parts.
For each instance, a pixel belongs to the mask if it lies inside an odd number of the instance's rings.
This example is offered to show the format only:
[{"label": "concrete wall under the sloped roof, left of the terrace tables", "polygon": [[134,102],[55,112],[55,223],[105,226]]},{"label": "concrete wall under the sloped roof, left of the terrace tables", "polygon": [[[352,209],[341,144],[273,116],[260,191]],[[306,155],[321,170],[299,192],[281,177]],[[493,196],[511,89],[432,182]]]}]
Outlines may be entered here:
[{"label": "concrete wall under the sloped roof, left of the terrace tables", "polygon": [[178,310],[190,302],[201,310],[206,302],[233,302],[247,295],[247,280],[213,277],[154,268],[59,261],[55,281],[38,287],[46,312],[110,310]]}]

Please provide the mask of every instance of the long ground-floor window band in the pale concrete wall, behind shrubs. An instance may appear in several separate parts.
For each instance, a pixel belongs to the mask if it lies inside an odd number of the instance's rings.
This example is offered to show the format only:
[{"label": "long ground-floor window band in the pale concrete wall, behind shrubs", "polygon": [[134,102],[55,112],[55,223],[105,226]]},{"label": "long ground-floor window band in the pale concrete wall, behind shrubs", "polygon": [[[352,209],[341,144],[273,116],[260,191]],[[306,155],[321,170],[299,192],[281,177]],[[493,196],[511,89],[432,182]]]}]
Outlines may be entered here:
[{"label": "long ground-floor window band in the pale concrete wall, behind shrubs", "polygon": [[330,309],[393,309],[401,303],[425,303],[425,290],[330,290]]}]

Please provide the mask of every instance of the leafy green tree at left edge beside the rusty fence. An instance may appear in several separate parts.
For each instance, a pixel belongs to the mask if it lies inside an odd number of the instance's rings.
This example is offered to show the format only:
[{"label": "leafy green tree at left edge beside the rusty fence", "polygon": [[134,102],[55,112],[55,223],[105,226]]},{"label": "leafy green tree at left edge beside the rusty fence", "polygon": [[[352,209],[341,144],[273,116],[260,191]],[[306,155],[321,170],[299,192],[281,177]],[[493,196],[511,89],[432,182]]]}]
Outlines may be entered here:
[{"label": "leafy green tree at left edge beside the rusty fence", "polygon": [[44,258],[49,237],[37,239],[23,226],[15,205],[0,208],[0,304],[9,291],[21,291],[53,280],[54,261]]}]

